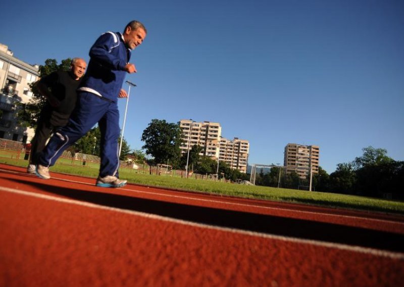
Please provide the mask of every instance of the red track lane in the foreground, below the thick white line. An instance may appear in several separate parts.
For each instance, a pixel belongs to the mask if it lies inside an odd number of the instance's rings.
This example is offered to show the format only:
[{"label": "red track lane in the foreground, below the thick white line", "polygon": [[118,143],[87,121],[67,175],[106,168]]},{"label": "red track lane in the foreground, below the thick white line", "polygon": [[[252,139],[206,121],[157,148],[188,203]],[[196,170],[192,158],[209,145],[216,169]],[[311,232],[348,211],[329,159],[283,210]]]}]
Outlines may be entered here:
[{"label": "red track lane in the foreground, below the thick white line", "polygon": [[0,192],[5,286],[392,286],[403,279],[404,260],[383,253],[28,194]]}]

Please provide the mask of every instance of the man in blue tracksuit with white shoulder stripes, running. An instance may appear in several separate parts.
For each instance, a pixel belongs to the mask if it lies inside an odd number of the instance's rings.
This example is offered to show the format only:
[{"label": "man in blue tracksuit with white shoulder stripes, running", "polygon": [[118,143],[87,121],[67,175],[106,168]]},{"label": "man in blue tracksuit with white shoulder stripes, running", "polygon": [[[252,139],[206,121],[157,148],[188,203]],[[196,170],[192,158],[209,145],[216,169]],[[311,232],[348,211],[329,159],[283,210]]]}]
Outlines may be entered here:
[{"label": "man in blue tracksuit with white shoulder stripes, running", "polygon": [[49,166],[53,166],[63,151],[70,147],[96,123],[101,131],[101,164],[97,186],[120,187],[126,180],[118,174],[119,111],[118,98],[128,97],[122,89],[126,73],[136,72],[129,63],[131,50],[140,45],[146,28],[138,21],[126,25],[123,34],[106,32],[90,49],[90,61],[80,87],[77,106],[67,126],[58,129],[39,157],[38,176],[48,179]]}]

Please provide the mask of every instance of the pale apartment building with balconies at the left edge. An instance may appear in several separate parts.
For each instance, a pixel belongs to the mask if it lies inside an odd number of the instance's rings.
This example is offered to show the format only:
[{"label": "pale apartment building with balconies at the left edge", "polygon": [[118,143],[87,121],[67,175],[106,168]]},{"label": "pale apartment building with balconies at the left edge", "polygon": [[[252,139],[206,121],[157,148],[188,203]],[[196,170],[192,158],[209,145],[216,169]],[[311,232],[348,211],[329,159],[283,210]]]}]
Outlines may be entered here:
[{"label": "pale apartment building with balconies at the left edge", "polygon": [[22,142],[32,139],[34,130],[17,124],[16,103],[27,103],[32,98],[29,84],[38,78],[38,65],[17,59],[7,45],[0,43],[0,138]]}]

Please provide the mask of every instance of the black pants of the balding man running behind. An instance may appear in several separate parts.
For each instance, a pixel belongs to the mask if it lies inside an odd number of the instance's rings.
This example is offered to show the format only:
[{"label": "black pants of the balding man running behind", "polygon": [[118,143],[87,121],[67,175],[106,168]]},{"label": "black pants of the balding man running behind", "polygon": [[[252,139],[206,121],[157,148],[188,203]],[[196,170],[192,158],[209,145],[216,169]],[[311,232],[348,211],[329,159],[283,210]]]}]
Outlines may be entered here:
[{"label": "black pants of the balding man running behind", "polygon": [[56,129],[65,126],[69,121],[69,115],[62,115],[48,110],[41,113],[36,126],[34,138],[31,141],[30,164],[38,164],[38,157],[46,145],[46,141]]}]

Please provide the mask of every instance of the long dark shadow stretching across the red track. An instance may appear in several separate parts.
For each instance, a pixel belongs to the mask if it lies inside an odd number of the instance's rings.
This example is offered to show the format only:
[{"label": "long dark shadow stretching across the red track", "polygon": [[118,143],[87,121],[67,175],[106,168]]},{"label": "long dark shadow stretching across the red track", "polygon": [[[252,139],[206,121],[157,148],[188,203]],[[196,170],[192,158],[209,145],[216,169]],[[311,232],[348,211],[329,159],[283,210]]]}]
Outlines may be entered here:
[{"label": "long dark shadow stretching across the red track", "polygon": [[[197,207],[15,180],[70,199],[175,219],[267,234],[404,252],[404,235],[303,219]],[[113,189],[111,189],[112,191]]]}]

